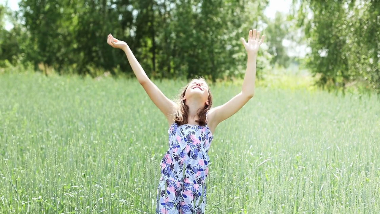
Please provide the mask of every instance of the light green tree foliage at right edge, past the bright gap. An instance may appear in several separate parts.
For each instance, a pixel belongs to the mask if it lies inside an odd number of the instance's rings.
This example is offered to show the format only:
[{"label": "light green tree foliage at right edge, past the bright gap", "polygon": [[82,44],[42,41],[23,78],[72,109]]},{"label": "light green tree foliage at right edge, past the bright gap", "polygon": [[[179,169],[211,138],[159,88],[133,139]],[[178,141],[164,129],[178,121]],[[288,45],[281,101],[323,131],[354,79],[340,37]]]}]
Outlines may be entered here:
[{"label": "light green tree foliage at right edge, past the bright gap", "polygon": [[321,86],[361,82],[380,89],[380,1],[293,0]]}]

